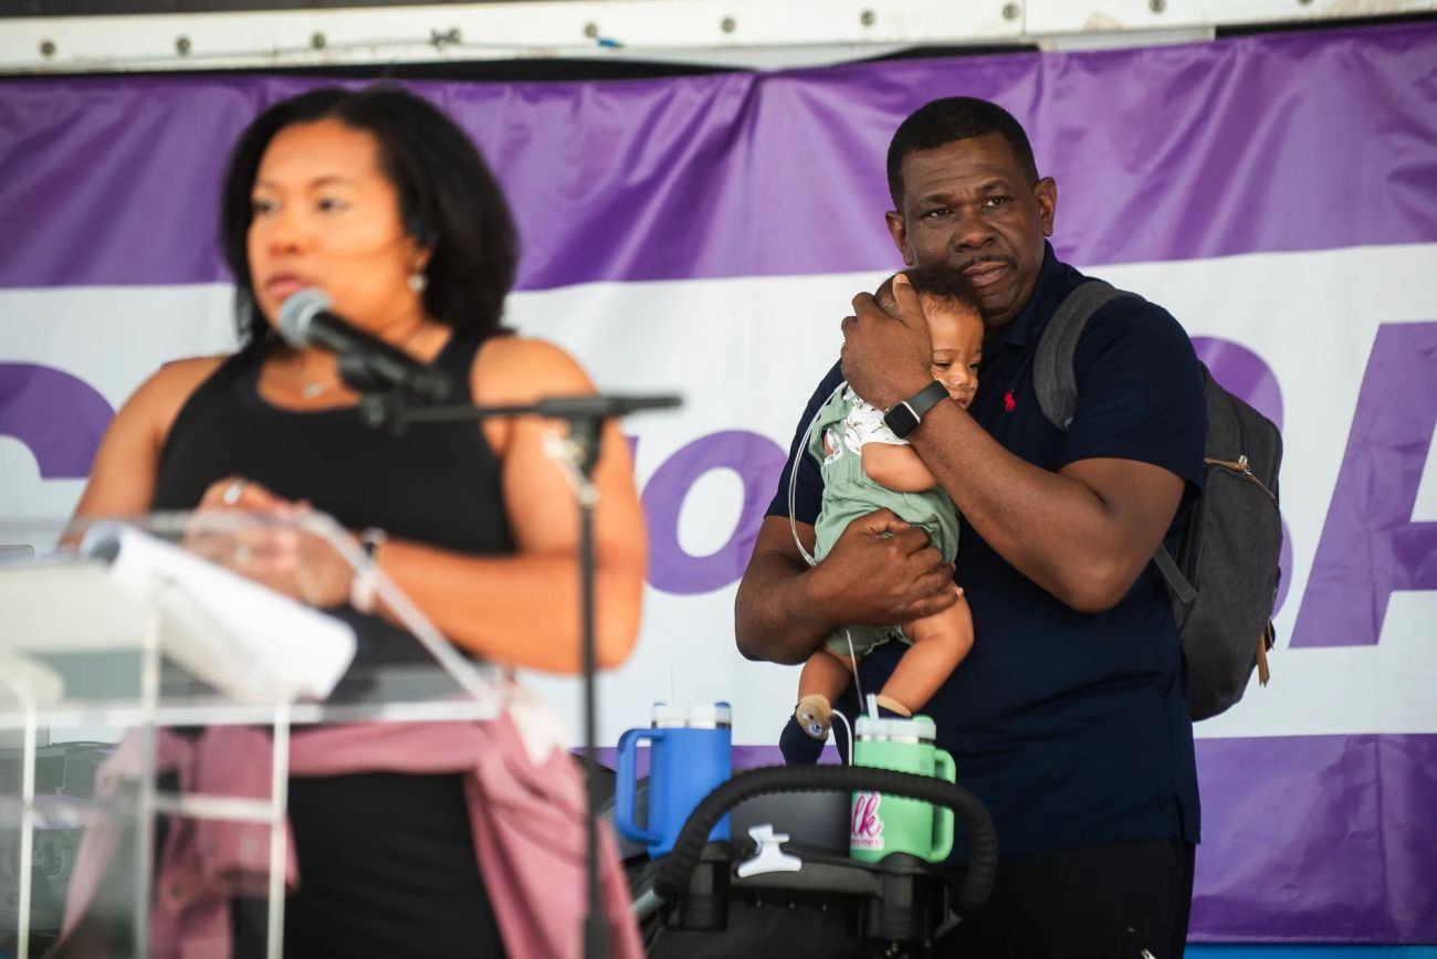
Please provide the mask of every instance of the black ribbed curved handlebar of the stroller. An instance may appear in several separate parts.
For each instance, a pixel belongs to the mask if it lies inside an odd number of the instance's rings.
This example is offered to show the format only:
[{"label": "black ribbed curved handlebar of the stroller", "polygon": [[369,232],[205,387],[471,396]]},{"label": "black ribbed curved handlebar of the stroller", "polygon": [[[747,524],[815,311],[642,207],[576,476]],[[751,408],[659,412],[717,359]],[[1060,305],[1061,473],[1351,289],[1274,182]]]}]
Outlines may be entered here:
[{"label": "black ribbed curved handlebar of the stroller", "polygon": [[977,797],[960,785],[875,767],[775,765],[747,769],[720,784],[694,807],[678,833],[674,851],[654,880],[654,892],[665,902],[675,902],[688,889],[688,879],[714,824],[743,800],[769,792],[885,792],[933,805],[943,805],[961,815],[969,827],[969,874],[958,892],[964,909],[977,909],[987,902],[997,873],[997,831],[993,818]]}]

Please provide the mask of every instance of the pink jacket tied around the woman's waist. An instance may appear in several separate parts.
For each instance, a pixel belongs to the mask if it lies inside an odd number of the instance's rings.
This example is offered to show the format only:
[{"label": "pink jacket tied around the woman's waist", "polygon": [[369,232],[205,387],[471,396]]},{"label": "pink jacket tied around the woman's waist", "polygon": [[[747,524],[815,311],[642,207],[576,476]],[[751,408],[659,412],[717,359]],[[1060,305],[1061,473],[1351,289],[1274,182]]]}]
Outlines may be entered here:
[{"label": "pink jacket tied around the woman's waist", "polygon": [[[504,948],[514,959],[578,959],[588,909],[583,881],[585,792],[578,765],[525,728],[519,705],[486,722],[319,726],[290,739],[290,774],[463,772],[474,854],[484,873]],[[516,722],[516,715],[519,716]],[[270,736],[253,726],[210,726],[197,739],[161,732],[157,762],[182,792],[267,800]],[[537,759],[535,757],[539,757]],[[138,739],[121,744],[96,781],[114,794],[139,768]],[[80,846],[65,909],[65,936],[93,900],[119,830],[92,827]],[[599,881],[609,955],[644,955],[614,840],[599,834]],[[286,884],[302,881],[289,843]],[[160,854],[151,912],[151,956],[228,959],[230,897],[264,890],[269,825],[174,820]]]}]

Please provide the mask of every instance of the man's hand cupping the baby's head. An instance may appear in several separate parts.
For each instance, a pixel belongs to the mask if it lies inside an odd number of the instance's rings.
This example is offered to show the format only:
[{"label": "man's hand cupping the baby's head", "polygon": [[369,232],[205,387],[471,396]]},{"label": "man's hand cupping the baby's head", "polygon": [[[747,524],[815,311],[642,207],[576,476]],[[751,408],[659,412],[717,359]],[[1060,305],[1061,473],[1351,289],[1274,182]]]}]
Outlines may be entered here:
[{"label": "man's hand cupping the baby's head", "polygon": [[854,316],[844,320],[844,379],[878,409],[908,399],[933,382],[933,342],[918,294],[907,280],[894,280],[894,319],[868,293],[854,297]]}]

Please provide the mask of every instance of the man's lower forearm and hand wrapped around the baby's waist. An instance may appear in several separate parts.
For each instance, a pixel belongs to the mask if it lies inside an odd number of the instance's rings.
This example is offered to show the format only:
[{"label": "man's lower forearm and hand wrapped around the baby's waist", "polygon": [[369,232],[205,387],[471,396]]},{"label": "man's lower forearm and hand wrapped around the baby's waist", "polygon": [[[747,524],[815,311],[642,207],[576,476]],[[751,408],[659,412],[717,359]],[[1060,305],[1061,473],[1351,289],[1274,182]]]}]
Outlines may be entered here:
[{"label": "man's lower forearm and hand wrapped around the baby's waist", "polygon": [[[798,524],[813,551],[813,527]],[[815,567],[793,543],[787,517],[759,527],[739,583],[734,630],[747,659],[802,663],[839,626],[888,626],[953,606],[953,566],[928,535],[888,510],[854,520]]]}]

